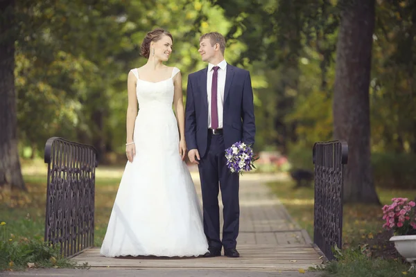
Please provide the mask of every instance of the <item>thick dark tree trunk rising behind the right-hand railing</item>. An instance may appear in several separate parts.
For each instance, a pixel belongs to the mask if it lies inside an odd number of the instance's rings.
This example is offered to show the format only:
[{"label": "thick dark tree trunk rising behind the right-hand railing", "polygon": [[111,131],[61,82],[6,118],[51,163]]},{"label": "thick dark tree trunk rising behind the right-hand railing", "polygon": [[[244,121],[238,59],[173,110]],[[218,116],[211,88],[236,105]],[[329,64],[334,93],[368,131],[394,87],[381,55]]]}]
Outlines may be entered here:
[{"label": "thick dark tree trunk rising behind the right-hand railing", "polygon": [[344,199],[365,204],[380,204],[370,162],[369,85],[374,1],[343,1],[333,96],[334,136],[347,141],[349,146]]}]

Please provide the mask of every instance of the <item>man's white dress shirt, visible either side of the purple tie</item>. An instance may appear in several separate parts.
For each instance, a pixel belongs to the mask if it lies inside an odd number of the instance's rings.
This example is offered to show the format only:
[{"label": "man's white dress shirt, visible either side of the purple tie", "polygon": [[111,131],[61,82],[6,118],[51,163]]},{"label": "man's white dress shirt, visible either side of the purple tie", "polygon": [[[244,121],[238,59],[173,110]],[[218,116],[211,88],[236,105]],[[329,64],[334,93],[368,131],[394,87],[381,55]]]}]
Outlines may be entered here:
[{"label": "man's white dress shirt, visible either side of the purple tie", "polygon": [[208,98],[208,128],[211,128],[211,86],[212,75],[214,74],[214,66],[219,66],[218,69],[218,88],[217,88],[217,111],[218,111],[218,129],[223,127],[223,107],[224,107],[224,90],[225,90],[225,77],[227,73],[227,62],[223,60],[217,65],[208,64],[207,72],[207,98]]}]

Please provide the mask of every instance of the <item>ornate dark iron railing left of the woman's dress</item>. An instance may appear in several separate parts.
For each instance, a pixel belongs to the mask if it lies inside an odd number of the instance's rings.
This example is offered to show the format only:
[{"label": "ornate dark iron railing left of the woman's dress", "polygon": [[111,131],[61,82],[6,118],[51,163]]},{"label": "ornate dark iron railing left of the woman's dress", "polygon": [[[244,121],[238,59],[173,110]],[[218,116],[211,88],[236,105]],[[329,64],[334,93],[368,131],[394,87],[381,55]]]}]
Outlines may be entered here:
[{"label": "ornate dark iron railing left of the woman's dress", "polygon": [[52,137],[46,141],[48,163],[45,242],[60,246],[64,257],[94,245],[94,195],[97,152],[91,145]]}]

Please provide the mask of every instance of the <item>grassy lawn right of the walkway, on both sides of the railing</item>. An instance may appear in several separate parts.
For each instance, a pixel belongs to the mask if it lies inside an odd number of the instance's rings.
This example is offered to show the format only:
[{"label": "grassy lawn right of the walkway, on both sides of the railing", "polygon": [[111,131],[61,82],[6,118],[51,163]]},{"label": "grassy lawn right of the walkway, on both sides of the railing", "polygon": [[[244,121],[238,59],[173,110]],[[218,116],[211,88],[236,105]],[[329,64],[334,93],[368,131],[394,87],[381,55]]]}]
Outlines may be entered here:
[{"label": "grassy lawn right of the walkway, on both sides of the railing", "polygon": [[[293,182],[270,184],[288,213],[313,239],[313,188],[293,189]],[[388,190],[377,188],[381,204],[390,204],[393,197],[413,198],[416,190]],[[383,231],[381,206],[345,204],[343,213],[343,250],[338,260],[327,263],[322,276],[330,277],[415,277],[407,270],[410,265],[389,242],[392,234]],[[340,256],[341,255],[341,256]]]}]

